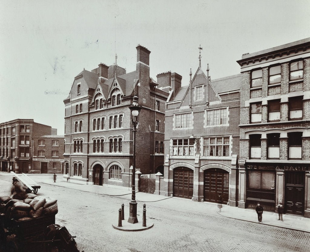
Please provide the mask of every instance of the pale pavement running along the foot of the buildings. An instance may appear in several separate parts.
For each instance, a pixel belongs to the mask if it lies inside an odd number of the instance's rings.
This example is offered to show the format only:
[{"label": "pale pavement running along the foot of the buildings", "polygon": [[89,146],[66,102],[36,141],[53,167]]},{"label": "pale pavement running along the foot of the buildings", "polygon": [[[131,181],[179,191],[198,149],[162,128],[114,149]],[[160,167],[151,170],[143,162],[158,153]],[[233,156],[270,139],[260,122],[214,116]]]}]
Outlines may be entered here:
[{"label": "pale pavement running along the foot of the buildings", "polygon": [[[0,172],[0,176],[12,176],[10,173]],[[95,185],[80,185],[72,182],[66,182],[61,175],[57,176],[56,182],[53,182],[52,174],[28,174],[34,181],[46,183],[58,187],[67,187],[79,191],[92,192],[101,195],[118,196],[126,199],[131,199],[131,189],[124,187],[112,187],[108,185],[95,186]],[[40,190],[40,189],[39,189]],[[156,202],[160,200],[168,200],[171,197],[165,197],[161,195],[153,195],[148,193],[137,192],[136,201],[138,202]],[[174,199],[178,199],[175,198]],[[191,200],[179,199],[179,204],[183,209],[192,210],[194,212],[205,212],[210,206],[210,209],[214,209],[214,203],[203,202],[199,204],[193,204]],[[174,203],[175,204],[175,203]],[[213,208],[212,208],[213,207]],[[220,213],[222,216],[232,219],[243,220],[247,222],[257,223],[257,215],[254,209],[242,209],[238,207],[231,207],[223,205]],[[310,218],[304,218],[302,216],[283,214],[283,222],[278,220],[278,214],[264,211],[261,225],[268,225],[274,227],[282,227],[292,230],[304,231],[310,233]]]}]

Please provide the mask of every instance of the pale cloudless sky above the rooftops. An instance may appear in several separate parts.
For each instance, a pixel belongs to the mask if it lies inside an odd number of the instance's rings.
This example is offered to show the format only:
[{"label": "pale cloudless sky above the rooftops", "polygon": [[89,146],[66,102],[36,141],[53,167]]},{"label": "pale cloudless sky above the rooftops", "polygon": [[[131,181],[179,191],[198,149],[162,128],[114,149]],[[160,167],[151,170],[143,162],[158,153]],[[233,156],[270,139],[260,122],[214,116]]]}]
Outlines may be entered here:
[{"label": "pale cloudless sky above the rooftops", "polygon": [[310,37],[310,1],[1,0],[0,123],[34,119],[64,134],[74,77],[115,63],[136,68],[148,48],[150,77],[209,64],[211,79],[240,73],[242,54]]}]

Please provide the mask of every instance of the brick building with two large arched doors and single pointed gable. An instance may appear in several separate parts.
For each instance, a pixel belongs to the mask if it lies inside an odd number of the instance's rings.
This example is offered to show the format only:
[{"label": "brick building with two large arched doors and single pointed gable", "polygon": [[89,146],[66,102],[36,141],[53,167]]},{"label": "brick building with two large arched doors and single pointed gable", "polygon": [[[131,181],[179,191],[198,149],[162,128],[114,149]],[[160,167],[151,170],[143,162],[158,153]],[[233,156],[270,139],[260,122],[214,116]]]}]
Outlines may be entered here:
[{"label": "brick building with two large arched doors and single pointed gable", "polygon": [[156,194],[194,201],[237,204],[240,74],[211,81],[199,67],[189,85],[170,72],[157,75],[158,85],[171,79],[165,110],[164,177]]}]

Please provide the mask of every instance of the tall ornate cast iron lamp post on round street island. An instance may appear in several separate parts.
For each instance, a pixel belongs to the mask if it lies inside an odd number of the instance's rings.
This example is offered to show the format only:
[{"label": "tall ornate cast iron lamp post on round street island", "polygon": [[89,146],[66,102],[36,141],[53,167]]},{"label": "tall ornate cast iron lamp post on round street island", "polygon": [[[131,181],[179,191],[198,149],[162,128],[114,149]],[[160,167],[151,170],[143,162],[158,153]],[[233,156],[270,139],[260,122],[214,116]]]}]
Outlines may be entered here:
[{"label": "tall ornate cast iron lamp post on round street island", "polygon": [[129,109],[131,112],[131,122],[134,125],[133,130],[133,158],[132,158],[132,178],[131,178],[131,201],[129,202],[129,223],[137,223],[137,202],[135,201],[135,147],[136,147],[136,132],[137,125],[139,121],[139,113],[142,108],[142,105],[138,104],[138,97],[134,96],[132,100],[132,104],[129,105]]}]

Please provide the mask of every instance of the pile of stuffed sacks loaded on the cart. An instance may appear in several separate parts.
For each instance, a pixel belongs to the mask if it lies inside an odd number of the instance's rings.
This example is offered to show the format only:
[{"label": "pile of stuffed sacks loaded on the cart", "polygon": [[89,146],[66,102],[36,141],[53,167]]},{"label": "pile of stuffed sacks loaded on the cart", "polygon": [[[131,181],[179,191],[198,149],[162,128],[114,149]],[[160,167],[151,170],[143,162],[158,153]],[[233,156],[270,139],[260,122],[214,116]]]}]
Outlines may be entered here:
[{"label": "pile of stuffed sacks loaded on the cart", "polygon": [[27,193],[24,200],[2,196],[0,197],[0,203],[0,212],[10,219],[27,220],[58,213],[56,199],[44,198],[33,193]]}]

